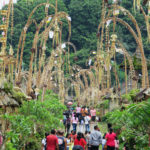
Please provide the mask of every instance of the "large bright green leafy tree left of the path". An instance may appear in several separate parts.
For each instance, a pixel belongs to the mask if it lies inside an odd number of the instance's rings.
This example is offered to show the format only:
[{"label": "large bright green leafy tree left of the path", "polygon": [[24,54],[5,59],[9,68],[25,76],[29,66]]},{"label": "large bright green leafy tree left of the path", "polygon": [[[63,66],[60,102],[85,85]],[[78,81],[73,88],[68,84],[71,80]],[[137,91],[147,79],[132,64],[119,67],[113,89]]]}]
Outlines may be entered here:
[{"label": "large bright green leafy tree left of the path", "polygon": [[[24,102],[17,114],[5,115],[10,121],[10,131],[6,134],[6,140],[17,150],[26,145],[26,149],[40,149],[41,139],[51,129],[63,128],[61,120],[65,106],[60,103],[58,96],[52,91],[46,91],[44,102],[32,100]],[[58,111],[59,110],[59,111]]]}]

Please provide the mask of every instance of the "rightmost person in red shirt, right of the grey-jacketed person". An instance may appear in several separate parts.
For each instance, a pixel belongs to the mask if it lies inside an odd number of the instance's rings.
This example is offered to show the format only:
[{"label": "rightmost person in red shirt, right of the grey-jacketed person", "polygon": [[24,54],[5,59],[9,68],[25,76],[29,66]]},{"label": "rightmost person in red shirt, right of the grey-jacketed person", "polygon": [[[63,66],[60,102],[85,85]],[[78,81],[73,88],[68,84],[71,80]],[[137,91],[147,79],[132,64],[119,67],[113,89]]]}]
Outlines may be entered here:
[{"label": "rightmost person in red shirt, right of the grey-jacketed person", "polygon": [[112,128],[109,128],[109,133],[106,134],[105,139],[107,150],[115,150],[116,133],[113,132]]}]

